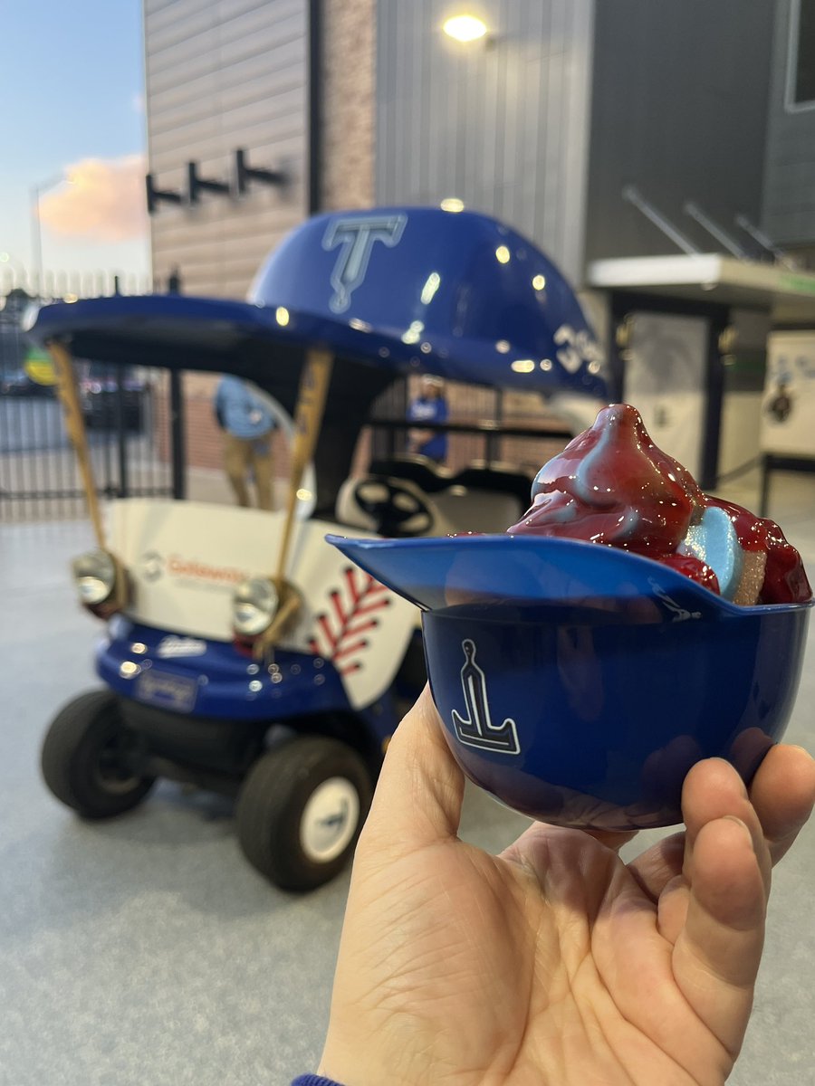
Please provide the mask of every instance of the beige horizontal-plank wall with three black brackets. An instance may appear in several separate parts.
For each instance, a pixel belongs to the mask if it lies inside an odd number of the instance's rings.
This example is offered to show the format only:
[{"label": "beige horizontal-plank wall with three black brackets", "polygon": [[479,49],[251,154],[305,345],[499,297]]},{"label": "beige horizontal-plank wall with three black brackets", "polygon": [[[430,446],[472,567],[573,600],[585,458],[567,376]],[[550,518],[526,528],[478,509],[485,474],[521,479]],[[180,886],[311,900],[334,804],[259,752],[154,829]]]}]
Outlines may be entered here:
[{"label": "beige horizontal-plank wall with three black brackets", "polygon": [[263,258],[305,212],[305,0],[150,0],[145,14],[150,168],[186,191],[186,163],[228,180],[234,152],[284,166],[285,189],[203,193],[151,217],[153,269],[179,268],[187,292],[242,296]]}]

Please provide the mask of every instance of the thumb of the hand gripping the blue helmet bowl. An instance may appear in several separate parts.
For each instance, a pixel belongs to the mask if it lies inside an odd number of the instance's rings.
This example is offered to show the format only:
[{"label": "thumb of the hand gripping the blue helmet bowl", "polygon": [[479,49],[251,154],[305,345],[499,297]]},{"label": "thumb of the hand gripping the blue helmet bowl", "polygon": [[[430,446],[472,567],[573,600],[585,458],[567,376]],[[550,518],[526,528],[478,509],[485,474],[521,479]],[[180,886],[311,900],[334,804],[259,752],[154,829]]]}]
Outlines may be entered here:
[{"label": "thumb of the hand gripping the blue helmet bowl", "polygon": [[392,860],[455,837],[463,798],[464,775],[425,686],[388,745],[358,859],[381,851]]}]

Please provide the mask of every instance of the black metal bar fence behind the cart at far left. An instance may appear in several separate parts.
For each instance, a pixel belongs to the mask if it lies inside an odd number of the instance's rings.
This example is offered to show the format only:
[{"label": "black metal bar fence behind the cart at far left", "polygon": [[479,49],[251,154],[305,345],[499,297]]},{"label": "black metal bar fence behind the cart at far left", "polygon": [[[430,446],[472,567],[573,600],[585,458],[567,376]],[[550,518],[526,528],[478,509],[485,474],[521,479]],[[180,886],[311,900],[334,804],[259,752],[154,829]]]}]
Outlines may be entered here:
[{"label": "black metal bar fence behind the cart at far left", "polygon": [[[4,269],[8,273],[9,269]],[[25,334],[28,306],[59,296],[122,292],[115,276],[52,276],[32,283],[0,269],[0,520],[78,517],[82,481],[48,355]],[[128,280],[133,288],[149,286]],[[46,289],[50,288],[46,294]],[[85,288],[85,289],[83,289]],[[43,296],[45,295],[45,296]],[[168,390],[146,367],[76,361],[79,401],[101,496],[171,494]]]}]

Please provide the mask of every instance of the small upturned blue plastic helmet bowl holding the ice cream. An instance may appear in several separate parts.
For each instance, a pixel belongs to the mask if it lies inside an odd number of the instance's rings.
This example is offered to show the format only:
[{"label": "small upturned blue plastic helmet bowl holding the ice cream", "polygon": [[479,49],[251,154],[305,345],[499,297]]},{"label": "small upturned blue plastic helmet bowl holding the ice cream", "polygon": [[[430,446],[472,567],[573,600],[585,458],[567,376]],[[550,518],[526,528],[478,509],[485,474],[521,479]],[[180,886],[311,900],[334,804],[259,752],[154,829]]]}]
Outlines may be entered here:
[{"label": "small upturned blue plastic helmet bowl holding the ice cream", "polygon": [[739,607],[649,558],[570,540],[330,541],[424,608],[450,749],[530,818],[680,822],[694,762],[726,758],[749,783],[787,725],[810,604]]}]

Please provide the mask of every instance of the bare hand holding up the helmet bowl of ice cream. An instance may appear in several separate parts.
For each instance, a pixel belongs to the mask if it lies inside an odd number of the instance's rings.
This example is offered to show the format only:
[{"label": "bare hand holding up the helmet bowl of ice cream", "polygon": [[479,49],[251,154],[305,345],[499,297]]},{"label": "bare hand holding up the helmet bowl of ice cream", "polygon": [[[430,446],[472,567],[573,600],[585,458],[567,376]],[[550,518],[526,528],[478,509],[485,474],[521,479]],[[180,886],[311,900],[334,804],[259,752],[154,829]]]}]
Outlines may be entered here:
[{"label": "bare hand holding up the helmet bowl of ice cream", "polygon": [[456,836],[464,780],[425,691],[393,736],[354,859],[321,1074],[346,1086],[718,1086],[750,1015],[770,868],[815,799],[776,746],[750,788],[693,767],[686,831],[534,823],[500,856]]}]

